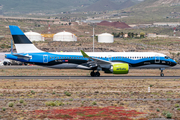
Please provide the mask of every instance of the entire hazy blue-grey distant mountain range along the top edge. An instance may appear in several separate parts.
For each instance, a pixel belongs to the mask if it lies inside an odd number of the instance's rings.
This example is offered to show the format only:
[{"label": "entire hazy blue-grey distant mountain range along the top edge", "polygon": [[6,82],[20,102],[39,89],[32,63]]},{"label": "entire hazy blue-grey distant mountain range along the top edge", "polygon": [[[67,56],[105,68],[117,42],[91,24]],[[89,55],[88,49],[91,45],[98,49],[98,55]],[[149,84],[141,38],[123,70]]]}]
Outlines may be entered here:
[{"label": "entire hazy blue-grey distant mountain range along the top edge", "polygon": [[[138,0],[1,0],[0,9],[5,15],[45,13],[56,14],[64,11],[119,10],[137,3]],[[126,3],[126,4],[125,4]],[[120,5],[123,5],[120,6]]]}]

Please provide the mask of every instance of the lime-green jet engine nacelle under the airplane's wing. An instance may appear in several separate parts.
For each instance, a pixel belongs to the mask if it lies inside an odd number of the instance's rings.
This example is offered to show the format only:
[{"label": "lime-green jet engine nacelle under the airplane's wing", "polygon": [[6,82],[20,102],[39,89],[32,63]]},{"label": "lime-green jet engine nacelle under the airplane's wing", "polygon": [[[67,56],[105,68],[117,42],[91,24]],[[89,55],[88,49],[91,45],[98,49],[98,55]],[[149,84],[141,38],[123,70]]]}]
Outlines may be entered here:
[{"label": "lime-green jet engine nacelle under the airplane's wing", "polygon": [[129,65],[127,63],[113,64],[110,68],[110,71],[113,74],[128,74],[129,73]]}]

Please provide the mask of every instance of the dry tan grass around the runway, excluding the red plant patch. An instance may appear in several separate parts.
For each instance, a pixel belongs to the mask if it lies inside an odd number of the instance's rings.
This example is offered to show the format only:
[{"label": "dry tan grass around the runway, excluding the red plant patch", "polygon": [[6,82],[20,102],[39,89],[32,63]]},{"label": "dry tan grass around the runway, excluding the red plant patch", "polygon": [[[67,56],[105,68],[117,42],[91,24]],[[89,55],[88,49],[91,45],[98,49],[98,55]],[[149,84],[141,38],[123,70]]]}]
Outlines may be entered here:
[{"label": "dry tan grass around the runway, excluding the red plant patch", "polygon": [[[29,75],[64,75],[86,76],[89,71],[82,70],[12,70],[7,69],[2,73],[6,75],[19,74],[19,72]],[[30,73],[29,73],[30,72]],[[74,73],[73,73],[74,72]],[[156,75],[158,70],[132,70],[129,75],[138,76]],[[179,70],[166,70],[166,75],[178,75]],[[73,74],[72,74],[73,73]],[[105,74],[102,74],[105,75]],[[158,74],[159,75],[159,74]],[[180,111],[177,104],[180,104],[180,79],[62,79],[62,80],[0,80],[0,110],[3,119],[25,119],[24,111],[37,109],[54,109],[56,106],[47,106],[50,101],[62,102],[59,109],[77,108],[82,106],[94,106],[95,101],[98,107],[123,106],[127,110],[137,110],[144,112],[141,118],[165,117],[163,111],[173,113],[173,118],[180,119]],[[148,87],[151,92],[148,92]],[[65,91],[71,95],[65,94]],[[20,103],[19,100],[24,100]],[[8,103],[13,102],[14,107],[8,107]],[[51,102],[50,102],[51,103]],[[157,112],[157,108],[160,112]],[[18,111],[18,114],[16,114]],[[30,112],[29,112],[30,113]]]}]

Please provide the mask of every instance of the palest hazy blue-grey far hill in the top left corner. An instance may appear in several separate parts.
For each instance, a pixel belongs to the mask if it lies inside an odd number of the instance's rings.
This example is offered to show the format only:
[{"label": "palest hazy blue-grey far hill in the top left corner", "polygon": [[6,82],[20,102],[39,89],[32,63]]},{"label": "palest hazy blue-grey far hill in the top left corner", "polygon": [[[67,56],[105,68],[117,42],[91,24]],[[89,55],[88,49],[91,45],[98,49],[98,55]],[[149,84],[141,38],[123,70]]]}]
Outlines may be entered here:
[{"label": "palest hazy blue-grey far hill in the top left corner", "polygon": [[90,5],[98,0],[1,0],[5,14],[55,13],[71,11],[82,5]]}]

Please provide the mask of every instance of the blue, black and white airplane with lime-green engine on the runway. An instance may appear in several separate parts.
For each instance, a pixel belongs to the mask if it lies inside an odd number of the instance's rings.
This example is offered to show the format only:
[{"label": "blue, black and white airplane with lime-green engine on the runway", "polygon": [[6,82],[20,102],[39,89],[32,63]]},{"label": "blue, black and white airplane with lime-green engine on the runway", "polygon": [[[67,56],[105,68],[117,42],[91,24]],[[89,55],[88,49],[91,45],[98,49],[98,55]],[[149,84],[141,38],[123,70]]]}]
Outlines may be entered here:
[{"label": "blue, black and white airplane with lime-green engine on the runway", "polygon": [[157,52],[44,52],[36,48],[18,26],[9,26],[17,53],[6,54],[7,59],[56,69],[91,70],[92,77],[100,72],[128,74],[131,68],[160,69],[163,77],[165,68],[177,63],[170,57]]}]

